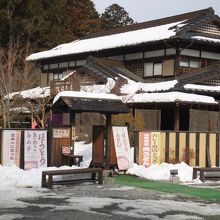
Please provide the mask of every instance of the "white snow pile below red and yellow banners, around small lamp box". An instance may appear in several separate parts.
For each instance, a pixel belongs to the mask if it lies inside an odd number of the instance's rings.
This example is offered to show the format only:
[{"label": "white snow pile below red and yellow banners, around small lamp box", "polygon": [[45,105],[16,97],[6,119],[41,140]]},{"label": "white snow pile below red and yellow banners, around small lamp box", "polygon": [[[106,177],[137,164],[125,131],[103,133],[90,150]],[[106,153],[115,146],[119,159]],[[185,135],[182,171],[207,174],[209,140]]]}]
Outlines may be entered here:
[{"label": "white snow pile below red and yellow banners, around small lamp box", "polygon": [[126,173],[150,180],[170,180],[170,170],[174,169],[178,170],[178,176],[181,182],[192,181],[193,168],[184,162],[179,164],[161,163],[151,165],[147,168],[134,164]]}]

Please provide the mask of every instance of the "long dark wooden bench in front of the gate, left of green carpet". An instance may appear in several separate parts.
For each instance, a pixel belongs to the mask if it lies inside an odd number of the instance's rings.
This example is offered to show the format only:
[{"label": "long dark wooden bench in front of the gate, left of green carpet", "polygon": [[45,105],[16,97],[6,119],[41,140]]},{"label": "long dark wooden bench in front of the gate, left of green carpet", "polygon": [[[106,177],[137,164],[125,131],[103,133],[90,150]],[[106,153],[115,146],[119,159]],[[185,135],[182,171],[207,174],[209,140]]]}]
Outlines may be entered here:
[{"label": "long dark wooden bench in front of the gate, left of green carpet", "polygon": [[[68,180],[54,180],[53,176],[62,176],[62,175],[72,175],[74,174],[74,178]],[[76,174],[76,175],[75,175]],[[91,174],[90,178],[80,179],[75,178],[77,174]],[[97,176],[98,174],[98,176]],[[48,179],[46,178],[48,176]],[[52,188],[55,184],[74,184],[74,183],[82,183],[82,182],[96,182],[98,178],[98,183],[103,184],[103,169],[102,168],[82,168],[82,169],[66,169],[66,170],[48,170],[42,171],[42,182],[41,187]]]}]

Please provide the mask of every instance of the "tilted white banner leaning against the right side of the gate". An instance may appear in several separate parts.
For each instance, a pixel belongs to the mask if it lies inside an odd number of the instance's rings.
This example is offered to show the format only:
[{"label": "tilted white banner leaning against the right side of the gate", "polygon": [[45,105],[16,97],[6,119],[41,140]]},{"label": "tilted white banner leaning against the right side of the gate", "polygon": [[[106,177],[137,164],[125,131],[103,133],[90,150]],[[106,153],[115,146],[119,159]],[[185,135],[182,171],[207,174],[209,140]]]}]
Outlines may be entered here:
[{"label": "tilted white banner leaning against the right side of the gate", "polygon": [[115,152],[119,170],[127,170],[132,167],[132,155],[130,142],[128,138],[127,127],[114,126],[112,127]]}]

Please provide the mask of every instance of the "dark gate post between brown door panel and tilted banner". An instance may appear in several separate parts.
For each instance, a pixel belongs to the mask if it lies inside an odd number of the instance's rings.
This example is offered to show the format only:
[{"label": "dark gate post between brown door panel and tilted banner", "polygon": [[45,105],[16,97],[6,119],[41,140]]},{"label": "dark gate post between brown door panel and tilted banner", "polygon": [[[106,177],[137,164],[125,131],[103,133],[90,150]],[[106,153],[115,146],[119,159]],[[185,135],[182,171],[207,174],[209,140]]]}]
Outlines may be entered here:
[{"label": "dark gate post between brown door panel and tilted banner", "polygon": [[105,144],[105,168],[110,168],[109,166],[109,156],[110,156],[110,145],[109,145],[109,135],[110,135],[110,129],[112,124],[112,116],[110,114],[106,114],[106,144]]}]

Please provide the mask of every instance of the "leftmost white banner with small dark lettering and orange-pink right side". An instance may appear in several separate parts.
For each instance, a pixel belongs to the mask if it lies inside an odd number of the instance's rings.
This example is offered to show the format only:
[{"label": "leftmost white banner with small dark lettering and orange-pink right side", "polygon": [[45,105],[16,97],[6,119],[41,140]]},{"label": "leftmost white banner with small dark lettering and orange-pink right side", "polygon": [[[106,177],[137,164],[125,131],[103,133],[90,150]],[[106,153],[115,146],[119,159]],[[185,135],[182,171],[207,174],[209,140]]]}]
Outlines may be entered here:
[{"label": "leftmost white banner with small dark lettering and orange-pink right side", "polygon": [[20,167],[21,131],[3,130],[2,165]]}]

